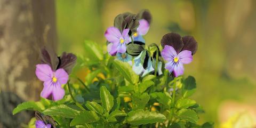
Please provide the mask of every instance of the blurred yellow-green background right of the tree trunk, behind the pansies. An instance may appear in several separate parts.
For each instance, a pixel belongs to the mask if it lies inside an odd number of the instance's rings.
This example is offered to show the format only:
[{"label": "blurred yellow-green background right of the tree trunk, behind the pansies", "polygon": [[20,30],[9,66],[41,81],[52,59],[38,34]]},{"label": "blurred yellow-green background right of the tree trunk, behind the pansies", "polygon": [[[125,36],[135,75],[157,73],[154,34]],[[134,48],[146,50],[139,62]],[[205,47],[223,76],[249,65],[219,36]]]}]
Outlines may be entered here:
[{"label": "blurred yellow-green background right of the tree trunk, behind the pansies", "polygon": [[195,37],[198,51],[185,76],[197,81],[193,99],[206,112],[200,122],[219,127],[232,115],[228,111],[256,110],[255,7],[253,0],[56,1],[58,51],[90,55],[83,50],[85,39],[105,46],[103,34],[117,14],[148,9],[153,22],[147,44],[160,44],[170,31]]}]

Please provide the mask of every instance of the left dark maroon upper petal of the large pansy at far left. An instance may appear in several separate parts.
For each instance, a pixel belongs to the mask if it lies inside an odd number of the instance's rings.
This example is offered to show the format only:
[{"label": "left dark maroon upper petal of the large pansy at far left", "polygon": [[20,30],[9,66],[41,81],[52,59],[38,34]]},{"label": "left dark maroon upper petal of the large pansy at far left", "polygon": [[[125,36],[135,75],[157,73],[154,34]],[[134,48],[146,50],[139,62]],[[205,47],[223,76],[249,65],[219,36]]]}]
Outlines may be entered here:
[{"label": "left dark maroon upper petal of the large pansy at far left", "polygon": [[59,64],[59,59],[57,57],[57,54],[52,49],[44,47],[41,50],[40,58],[42,63],[50,65],[52,70],[57,69]]}]

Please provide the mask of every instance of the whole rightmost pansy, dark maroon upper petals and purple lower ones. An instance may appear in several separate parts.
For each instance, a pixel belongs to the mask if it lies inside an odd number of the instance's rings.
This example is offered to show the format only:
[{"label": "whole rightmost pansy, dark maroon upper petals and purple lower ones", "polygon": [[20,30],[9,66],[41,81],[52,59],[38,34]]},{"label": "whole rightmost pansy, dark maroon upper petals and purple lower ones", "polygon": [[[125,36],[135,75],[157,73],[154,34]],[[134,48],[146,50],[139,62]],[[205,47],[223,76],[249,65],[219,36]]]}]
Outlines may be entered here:
[{"label": "whole rightmost pansy, dark maroon upper petals and purple lower ones", "polygon": [[178,77],[184,73],[183,64],[193,60],[192,55],[197,51],[197,42],[192,36],[181,37],[179,34],[169,33],[161,40],[162,57],[167,61],[165,69]]}]

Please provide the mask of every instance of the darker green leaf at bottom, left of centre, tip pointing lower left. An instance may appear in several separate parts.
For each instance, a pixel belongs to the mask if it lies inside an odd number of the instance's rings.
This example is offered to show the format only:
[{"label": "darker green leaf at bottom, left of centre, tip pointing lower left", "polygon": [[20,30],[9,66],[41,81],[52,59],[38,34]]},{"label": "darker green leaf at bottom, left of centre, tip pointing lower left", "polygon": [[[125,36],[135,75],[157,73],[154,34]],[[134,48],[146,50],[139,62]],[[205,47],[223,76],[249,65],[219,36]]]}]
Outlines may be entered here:
[{"label": "darker green leaf at bottom, left of centre, tip pointing lower left", "polygon": [[77,117],[75,117],[70,122],[70,126],[93,123],[99,121],[99,119],[99,116],[94,111],[82,111]]}]

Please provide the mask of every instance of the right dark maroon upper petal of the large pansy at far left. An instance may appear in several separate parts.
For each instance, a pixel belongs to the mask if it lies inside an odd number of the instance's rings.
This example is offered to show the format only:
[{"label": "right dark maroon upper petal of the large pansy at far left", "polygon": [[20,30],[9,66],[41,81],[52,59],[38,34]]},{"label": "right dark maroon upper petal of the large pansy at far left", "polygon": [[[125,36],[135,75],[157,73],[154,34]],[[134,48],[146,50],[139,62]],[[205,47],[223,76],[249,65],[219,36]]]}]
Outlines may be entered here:
[{"label": "right dark maroon upper petal of the large pansy at far left", "polygon": [[72,68],[76,64],[76,55],[72,53],[66,53],[63,52],[60,56],[60,66],[59,68],[63,68],[65,71],[67,71],[68,74],[71,73]]}]

